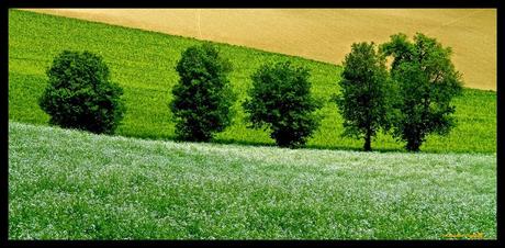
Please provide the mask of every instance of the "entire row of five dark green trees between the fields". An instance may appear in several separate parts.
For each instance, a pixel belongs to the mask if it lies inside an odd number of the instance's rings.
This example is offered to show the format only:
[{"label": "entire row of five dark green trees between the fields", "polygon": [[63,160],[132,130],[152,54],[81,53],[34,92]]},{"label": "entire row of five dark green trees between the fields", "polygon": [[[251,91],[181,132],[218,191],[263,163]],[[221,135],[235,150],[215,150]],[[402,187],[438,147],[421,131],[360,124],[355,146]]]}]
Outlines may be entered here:
[{"label": "entire row of five dark green trees between the fields", "polygon": [[[343,61],[340,92],[332,98],[344,119],[343,135],[362,139],[367,151],[379,132],[411,151],[418,151],[428,134],[447,135],[456,125],[451,100],[462,91],[450,56],[450,47],[422,33],[413,41],[400,33],[381,45],[352,44]],[[169,108],[177,138],[209,142],[235,115],[233,66],[204,44],[187,48],[176,70],[179,81]],[[38,103],[50,124],[114,133],[126,111],[123,90],[110,80],[100,56],[64,50],[46,74],[48,86]],[[280,147],[304,146],[321,124],[316,111],[323,106],[311,93],[310,77],[308,69],[290,61],[262,65],[250,76],[252,87],[242,104],[248,127],[269,131]]]}]

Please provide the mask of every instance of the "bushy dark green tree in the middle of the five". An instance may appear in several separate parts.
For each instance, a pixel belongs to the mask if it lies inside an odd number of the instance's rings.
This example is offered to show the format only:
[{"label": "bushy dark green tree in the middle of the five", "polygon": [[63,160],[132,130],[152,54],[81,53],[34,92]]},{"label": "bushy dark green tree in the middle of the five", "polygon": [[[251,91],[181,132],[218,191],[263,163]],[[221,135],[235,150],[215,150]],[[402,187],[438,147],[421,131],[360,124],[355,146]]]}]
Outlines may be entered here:
[{"label": "bushy dark green tree in the middle of the five", "polygon": [[305,145],[319,126],[314,111],[321,103],[311,95],[310,72],[289,61],[263,65],[252,75],[249,99],[243,104],[255,128],[270,128],[281,147]]}]

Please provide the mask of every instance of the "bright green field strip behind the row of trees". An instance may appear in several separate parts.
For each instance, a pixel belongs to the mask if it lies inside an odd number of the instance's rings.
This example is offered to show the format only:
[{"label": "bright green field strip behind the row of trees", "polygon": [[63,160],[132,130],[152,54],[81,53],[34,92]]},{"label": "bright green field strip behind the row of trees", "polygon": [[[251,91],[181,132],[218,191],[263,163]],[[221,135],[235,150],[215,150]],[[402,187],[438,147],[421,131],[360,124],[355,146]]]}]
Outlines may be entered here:
[{"label": "bright green field strip behind the row of trees", "polygon": [[[127,112],[117,134],[172,139],[175,126],[168,103],[171,88],[178,80],[175,66],[183,49],[201,43],[155,32],[10,10],[9,120],[47,124],[48,116],[37,105],[37,98],[46,86],[45,69],[64,49],[87,49],[104,57],[113,80],[124,88]],[[216,136],[216,143],[274,144],[267,132],[246,128],[240,103],[251,86],[249,76],[259,66],[288,59],[312,71],[313,92],[327,102],[321,110],[324,116],[322,126],[308,140],[308,147],[348,150],[362,147],[362,140],[340,136],[343,120],[336,105],[328,102],[330,94],[339,91],[339,66],[246,47],[216,45],[234,65],[231,81],[239,95],[235,105],[235,123]],[[496,93],[465,89],[454,104],[458,126],[447,137],[429,136],[422,150],[495,153]],[[372,148],[378,150],[402,150],[403,145],[384,134],[372,142]]]}]

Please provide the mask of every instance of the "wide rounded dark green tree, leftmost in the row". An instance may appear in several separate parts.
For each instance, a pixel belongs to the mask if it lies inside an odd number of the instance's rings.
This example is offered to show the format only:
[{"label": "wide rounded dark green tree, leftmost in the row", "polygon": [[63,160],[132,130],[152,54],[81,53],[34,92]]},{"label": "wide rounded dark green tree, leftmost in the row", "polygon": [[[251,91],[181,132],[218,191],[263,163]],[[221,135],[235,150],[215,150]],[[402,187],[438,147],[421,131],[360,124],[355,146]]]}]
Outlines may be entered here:
[{"label": "wide rounded dark green tree, leftmost in the row", "polygon": [[123,90],[110,81],[109,68],[100,56],[64,50],[46,72],[49,84],[38,104],[50,115],[50,124],[114,133],[125,111]]}]

